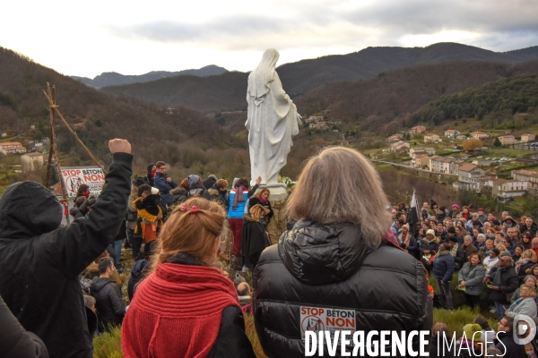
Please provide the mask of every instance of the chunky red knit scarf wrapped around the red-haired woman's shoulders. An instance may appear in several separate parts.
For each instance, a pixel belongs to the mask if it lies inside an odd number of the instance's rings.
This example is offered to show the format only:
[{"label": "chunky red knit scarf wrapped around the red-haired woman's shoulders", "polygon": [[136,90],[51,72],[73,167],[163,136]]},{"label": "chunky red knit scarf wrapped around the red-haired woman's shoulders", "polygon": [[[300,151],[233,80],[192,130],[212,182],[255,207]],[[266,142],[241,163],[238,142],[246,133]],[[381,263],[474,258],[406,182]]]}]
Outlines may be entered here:
[{"label": "chunky red knit scarf wrapped around the red-haired woman's shoulders", "polygon": [[136,289],[121,343],[130,357],[205,357],[219,333],[222,310],[239,306],[217,268],[163,263]]}]

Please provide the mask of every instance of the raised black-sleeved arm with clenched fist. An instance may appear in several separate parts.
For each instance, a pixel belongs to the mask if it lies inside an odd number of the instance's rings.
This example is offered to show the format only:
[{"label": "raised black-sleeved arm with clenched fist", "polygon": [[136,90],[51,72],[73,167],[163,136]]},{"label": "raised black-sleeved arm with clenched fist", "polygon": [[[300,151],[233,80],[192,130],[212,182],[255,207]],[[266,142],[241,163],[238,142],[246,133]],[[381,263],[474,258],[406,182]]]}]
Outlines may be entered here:
[{"label": "raised black-sleeved arm with clenched fist", "polygon": [[59,262],[66,277],[76,277],[114,241],[125,217],[133,174],[131,144],[126,140],[108,142],[112,163],[105,186],[87,218],[74,220],[44,235],[49,241],[50,260]]}]

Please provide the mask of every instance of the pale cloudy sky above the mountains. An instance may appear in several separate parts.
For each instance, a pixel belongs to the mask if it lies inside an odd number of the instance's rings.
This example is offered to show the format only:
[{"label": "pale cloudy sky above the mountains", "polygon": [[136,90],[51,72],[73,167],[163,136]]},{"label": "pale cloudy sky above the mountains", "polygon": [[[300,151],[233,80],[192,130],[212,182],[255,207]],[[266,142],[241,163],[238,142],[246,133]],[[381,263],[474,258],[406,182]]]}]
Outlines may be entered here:
[{"label": "pale cloudy sky above the mountains", "polygon": [[285,64],[365,47],[538,45],[536,0],[17,0],[2,8],[0,47],[91,78],[207,64],[249,71],[269,47]]}]

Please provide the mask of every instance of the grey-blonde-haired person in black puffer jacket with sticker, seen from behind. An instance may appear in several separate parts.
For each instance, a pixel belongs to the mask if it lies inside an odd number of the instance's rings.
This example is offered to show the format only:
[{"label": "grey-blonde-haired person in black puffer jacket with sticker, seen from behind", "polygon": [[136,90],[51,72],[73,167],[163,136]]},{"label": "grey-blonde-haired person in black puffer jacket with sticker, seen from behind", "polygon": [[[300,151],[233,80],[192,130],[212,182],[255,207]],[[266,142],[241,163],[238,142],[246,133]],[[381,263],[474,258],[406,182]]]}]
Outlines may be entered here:
[{"label": "grey-blonde-haired person in black puffer jacket with sticker, seen from behind", "polygon": [[[262,252],[253,274],[256,331],[267,356],[304,356],[312,321],[305,313],[313,307],[360,317],[353,330],[430,330],[426,274],[387,230],[386,202],[377,171],[358,151],[333,147],[308,160],[286,204],[298,222]],[[418,349],[419,340],[410,345]]]}]

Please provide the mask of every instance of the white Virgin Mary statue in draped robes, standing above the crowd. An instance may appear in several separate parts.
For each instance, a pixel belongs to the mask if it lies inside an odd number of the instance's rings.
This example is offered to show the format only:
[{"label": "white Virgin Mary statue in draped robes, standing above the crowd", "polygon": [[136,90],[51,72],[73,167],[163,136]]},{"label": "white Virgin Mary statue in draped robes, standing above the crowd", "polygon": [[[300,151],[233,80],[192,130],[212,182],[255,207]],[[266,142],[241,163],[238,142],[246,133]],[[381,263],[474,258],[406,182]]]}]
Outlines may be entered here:
[{"label": "white Virgin Mary statue in draped robes, standing above the crowd", "polygon": [[[258,176],[266,187],[278,186],[278,174],[286,165],[291,136],[299,133],[297,107],[282,89],[275,71],[279,53],[265,50],[262,61],[248,76],[248,146],[252,183]],[[284,185],[285,187],[285,185]],[[273,199],[273,190],[271,191]]]}]

